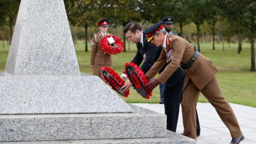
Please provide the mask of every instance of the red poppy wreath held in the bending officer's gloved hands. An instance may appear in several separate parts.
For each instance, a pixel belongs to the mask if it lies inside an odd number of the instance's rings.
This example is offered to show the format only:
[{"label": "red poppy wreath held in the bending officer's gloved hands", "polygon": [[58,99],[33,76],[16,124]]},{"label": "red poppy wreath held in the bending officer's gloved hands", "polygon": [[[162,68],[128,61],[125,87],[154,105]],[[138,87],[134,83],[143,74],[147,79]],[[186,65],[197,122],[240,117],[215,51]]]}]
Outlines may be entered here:
[{"label": "red poppy wreath held in the bending officer's gloved hands", "polygon": [[[129,78],[129,74],[128,74],[128,71],[126,69],[126,66],[130,66],[134,69],[136,75],[138,76],[135,76],[134,74],[130,74],[131,76],[131,79]],[[133,62],[128,62],[128,63],[125,63],[124,65],[125,67],[125,74],[127,75],[127,78],[130,79],[130,81],[133,83],[133,87],[134,89],[137,91],[137,93],[141,94],[139,92],[139,90],[142,90],[144,89],[145,90],[145,85],[147,85],[149,83],[147,77],[145,76],[145,74],[143,73],[143,71]],[[142,85],[141,85],[141,83]],[[142,97],[146,98],[146,99],[149,99],[150,97],[152,97],[152,90],[151,91],[148,91],[146,92],[146,97],[144,97],[142,94]]]}]

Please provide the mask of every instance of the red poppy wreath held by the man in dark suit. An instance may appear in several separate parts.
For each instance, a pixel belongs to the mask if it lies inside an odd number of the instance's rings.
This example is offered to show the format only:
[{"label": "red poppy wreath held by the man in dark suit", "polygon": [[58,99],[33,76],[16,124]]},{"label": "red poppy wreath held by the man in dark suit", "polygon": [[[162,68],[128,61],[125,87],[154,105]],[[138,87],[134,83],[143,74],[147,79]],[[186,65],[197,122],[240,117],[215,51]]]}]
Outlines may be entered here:
[{"label": "red poppy wreath held by the man in dark suit", "polygon": [[[126,93],[123,93],[121,91],[121,87],[124,85],[125,82],[113,69],[109,67],[101,67],[100,71],[104,76],[105,82],[108,83],[113,90],[117,91],[119,94],[121,94],[125,98],[128,97],[128,95],[130,94],[130,90],[126,91]],[[108,77],[111,77],[111,78],[107,78],[103,71],[106,71],[108,73],[107,74]]]}]

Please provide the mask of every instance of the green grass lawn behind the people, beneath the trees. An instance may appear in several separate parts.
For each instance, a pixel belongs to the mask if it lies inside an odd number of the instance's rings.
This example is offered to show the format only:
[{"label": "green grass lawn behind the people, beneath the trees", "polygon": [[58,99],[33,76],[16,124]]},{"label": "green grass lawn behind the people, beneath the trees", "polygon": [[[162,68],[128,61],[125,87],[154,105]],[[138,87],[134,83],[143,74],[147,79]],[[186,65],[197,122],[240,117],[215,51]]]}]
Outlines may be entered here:
[{"label": "green grass lawn behind the people, beneath the trees", "polygon": [[[127,44],[128,45],[128,44]],[[4,70],[9,45],[0,42],[0,70]],[[77,41],[75,44],[76,55],[80,71],[92,74],[90,68],[90,45],[89,52],[84,52],[83,41]],[[128,46],[127,46],[128,47]],[[128,48],[127,48],[128,49]],[[130,51],[113,55],[113,67],[118,74],[124,70],[124,63],[132,60],[136,52],[135,44],[130,44]],[[243,43],[243,51],[237,54],[237,43],[231,43],[230,48],[225,43],[225,51],[222,51],[222,44],[216,43],[216,50],[212,50],[212,43],[201,43],[201,53],[209,58],[215,66],[218,67],[217,78],[224,97],[233,103],[239,103],[246,106],[256,107],[256,73],[250,72],[251,52],[250,44]],[[149,100],[141,98],[133,89],[130,90],[126,102],[159,102],[159,87],[153,91],[153,97]],[[199,96],[199,102],[207,102],[203,95]]]}]

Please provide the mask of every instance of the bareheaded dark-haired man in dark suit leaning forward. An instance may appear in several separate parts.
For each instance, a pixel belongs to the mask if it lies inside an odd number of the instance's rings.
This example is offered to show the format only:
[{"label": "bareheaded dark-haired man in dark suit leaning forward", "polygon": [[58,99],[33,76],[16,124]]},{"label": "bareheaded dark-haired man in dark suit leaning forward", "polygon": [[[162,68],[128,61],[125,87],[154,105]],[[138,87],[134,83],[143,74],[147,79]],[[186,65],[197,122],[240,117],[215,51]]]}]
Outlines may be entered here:
[{"label": "bareheaded dark-haired man in dark suit leaning forward", "polygon": [[[162,51],[162,46],[155,46],[153,43],[149,43],[147,36],[142,33],[142,27],[137,22],[130,22],[124,27],[124,34],[129,39],[130,42],[136,43],[137,54],[133,58],[132,62],[140,66],[144,74],[153,66],[154,62],[159,58]],[[165,67],[163,66],[162,69]],[[122,78],[126,75],[122,74]],[[179,107],[181,101],[181,90],[184,81],[185,73],[182,70],[177,70],[177,73],[172,76],[172,78],[167,81],[166,91],[164,92],[166,102],[164,103],[165,114],[167,115],[167,130],[175,132],[177,129]],[[132,83],[126,81],[125,85],[121,87],[123,92],[130,89]]]}]

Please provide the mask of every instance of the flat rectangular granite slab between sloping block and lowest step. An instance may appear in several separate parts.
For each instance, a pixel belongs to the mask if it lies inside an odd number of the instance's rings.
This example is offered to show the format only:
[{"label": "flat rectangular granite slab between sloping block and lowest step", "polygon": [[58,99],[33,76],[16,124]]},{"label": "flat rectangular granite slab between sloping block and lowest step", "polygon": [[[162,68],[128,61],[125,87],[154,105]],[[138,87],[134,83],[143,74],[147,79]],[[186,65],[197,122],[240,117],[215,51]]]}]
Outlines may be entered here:
[{"label": "flat rectangular granite slab between sloping block and lowest step", "polygon": [[0,115],[0,141],[155,138],[166,116],[131,105],[134,113]]}]

